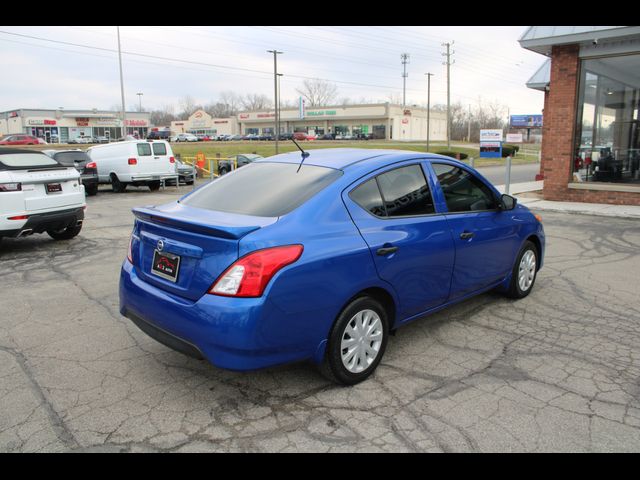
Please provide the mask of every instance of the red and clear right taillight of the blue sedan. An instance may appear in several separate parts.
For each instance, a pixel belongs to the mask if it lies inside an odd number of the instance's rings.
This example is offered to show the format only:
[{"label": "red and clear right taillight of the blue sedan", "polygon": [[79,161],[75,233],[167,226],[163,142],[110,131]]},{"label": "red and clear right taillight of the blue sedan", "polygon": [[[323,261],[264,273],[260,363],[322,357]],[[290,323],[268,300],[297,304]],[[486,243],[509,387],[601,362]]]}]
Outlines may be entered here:
[{"label": "red and clear right taillight of the blue sedan", "polygon": [[245,255],[225,270],[209,293],[225,297],[259,297],[280,269],[300,258],[302,250],[302,245],[287,245]]}]

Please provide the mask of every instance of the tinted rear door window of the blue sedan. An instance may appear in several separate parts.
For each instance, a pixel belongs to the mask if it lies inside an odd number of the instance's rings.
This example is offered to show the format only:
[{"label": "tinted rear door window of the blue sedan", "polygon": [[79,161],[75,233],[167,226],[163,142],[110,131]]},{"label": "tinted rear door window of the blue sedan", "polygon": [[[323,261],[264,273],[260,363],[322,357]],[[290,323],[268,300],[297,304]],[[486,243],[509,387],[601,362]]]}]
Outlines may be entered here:
[{"label": "tinted rear door window of the blue sedan", "polygon": [[378,217],[435,213],[431,192],[420,165],[378,175],[350,193],[354,202]]}]

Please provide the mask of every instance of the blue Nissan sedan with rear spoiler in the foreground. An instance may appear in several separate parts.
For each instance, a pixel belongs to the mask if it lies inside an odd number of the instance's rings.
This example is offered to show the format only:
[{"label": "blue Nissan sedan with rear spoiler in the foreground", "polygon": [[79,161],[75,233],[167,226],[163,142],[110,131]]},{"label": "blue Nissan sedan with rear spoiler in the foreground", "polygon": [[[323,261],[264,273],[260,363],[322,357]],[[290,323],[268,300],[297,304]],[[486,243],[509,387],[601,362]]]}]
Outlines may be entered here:
[{"label": "blue Nissan sedan with rear spoiler in the foreground", "polygon": [[394,150],[276,155],[133,213],[122,315],[221,368],[310,359],[345,385],[412,320],[527,296],[545,247],[539,218],[472,168]]}]

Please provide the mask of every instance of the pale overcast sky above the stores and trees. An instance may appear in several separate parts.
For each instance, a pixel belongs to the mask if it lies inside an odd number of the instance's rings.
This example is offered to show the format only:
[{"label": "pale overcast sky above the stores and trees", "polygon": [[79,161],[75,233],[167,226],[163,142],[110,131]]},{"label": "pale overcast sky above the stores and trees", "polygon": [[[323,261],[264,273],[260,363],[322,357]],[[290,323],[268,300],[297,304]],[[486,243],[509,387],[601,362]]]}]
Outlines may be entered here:
[{"label": "pale overcast sky above the stores and trees", "polygon": [[[407,65],[407,103],[446,103],[444,42],[454,42],[451,101],[497,102],[511,114],[536,114],[543,94],[525,82],[544,62],[518,38],[526,26],[498,27],[120,27],[127,107],[200,103],[222,91],[273,96],[273,56],[283,99],[298,97],[303,77],[335,82],[339,98],[402,98],[400,55]],[[0,27],[0,111],[16,108],[108,109],[121,103],[116,27]],[[19,35],[15,35],[19,34]],[[33,38],[37,37],[37,38]],[[67,42],[55,43],[55,42]],[[70,45],[75,44],[75,45]],[[86,48],[95,47],[95,48]],[[138,54],[138,55],[133,55]],[[162,57],[162,58],[157,58]],[[179,61],[179,60],[182,60]],[[187,63],[190,62],[190,63]],[[232,68],[233,67],[233,68]],[[506,115],[506,112],[505,112]]]}]

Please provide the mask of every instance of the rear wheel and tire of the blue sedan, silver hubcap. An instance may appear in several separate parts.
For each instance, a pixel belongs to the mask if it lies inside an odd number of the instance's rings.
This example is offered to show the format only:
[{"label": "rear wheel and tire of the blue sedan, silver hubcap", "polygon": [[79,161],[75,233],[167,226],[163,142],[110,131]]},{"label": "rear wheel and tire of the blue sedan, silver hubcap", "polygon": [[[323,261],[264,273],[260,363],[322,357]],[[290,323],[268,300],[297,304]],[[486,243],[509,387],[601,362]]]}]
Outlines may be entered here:
[{"label": "rear wheel and tire of the blue sedan, silver hubcap", "polygon": [[[380,363],[388,337],[389,321],[384,307],[368,296],[356,298],[342,310],[331,328],[320,372],[342,385],[362,382]],[[354,347],[351,351],[350,344]]]}]

